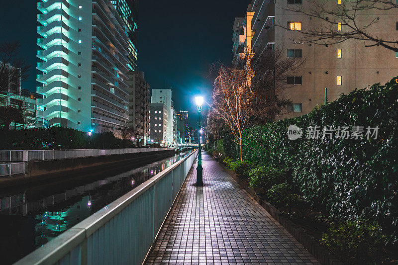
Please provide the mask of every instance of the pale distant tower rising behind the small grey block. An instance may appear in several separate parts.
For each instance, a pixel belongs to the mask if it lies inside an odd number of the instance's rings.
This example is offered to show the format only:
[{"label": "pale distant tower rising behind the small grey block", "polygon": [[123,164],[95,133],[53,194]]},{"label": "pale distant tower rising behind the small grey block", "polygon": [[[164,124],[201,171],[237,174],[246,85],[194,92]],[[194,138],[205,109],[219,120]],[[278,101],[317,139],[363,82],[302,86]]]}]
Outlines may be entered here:
[{"label": "pale distant tower rising behind the small grey block", "polygon": [[173,144],[176,143],[176,115],[171,94],[171,89],[152,89],[151,103],[163,103],[166,105],[168,114],[167,141]]}]

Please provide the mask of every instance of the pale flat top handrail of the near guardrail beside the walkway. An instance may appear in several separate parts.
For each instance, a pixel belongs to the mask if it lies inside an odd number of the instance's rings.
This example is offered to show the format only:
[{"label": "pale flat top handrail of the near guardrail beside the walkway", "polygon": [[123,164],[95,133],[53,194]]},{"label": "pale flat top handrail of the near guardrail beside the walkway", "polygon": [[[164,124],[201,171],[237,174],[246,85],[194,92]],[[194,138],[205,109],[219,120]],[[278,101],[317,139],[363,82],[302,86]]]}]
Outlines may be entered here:
[{"label": "pale flat top handrail of the near guardrail beside the walkway", "polygon": [[[71,252],[79,244],[83,244],[85,240],[89,238],[94,232],[100,227],[105,225],[110,219],[115,217],[119,212],[127,207],[130,203],[136,200],[141,194],[147,191],[150,187],[155,185],[163,177],[184,163],[191,156],[197,155],[198,150],[192,152],[184,159],[176,162],[169,168],[155,175],[151,179],[140,184],[136,188],[127,192],[120,198],[114,200],[110,204],[102,207],[99,211],[93,215],[87,217],[80,223],[76,224],[72,228],[68,229],[60,236],[51,240],[43,247],[30,253],[23,259],[16,262],[16,265],[24,264],[54,264],[60,261],[65,255]],[[186,176],[185,176],[186,177]],[[181,188],[181,187],[180,187]],[[156,231],[157,232],[157,231]]]}]

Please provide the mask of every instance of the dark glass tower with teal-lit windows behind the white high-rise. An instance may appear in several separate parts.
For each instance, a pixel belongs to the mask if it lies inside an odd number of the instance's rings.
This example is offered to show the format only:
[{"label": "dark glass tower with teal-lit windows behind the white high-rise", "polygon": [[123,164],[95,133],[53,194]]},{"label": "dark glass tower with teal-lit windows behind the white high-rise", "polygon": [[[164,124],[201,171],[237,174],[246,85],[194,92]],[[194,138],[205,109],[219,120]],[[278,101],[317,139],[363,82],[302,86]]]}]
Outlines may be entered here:
[{"label": "dark glass tower with teal-lit windows behind the white high-rise", "polygon": [[137,70],[137,0],[110,0],[128,27],[128,68]]}]

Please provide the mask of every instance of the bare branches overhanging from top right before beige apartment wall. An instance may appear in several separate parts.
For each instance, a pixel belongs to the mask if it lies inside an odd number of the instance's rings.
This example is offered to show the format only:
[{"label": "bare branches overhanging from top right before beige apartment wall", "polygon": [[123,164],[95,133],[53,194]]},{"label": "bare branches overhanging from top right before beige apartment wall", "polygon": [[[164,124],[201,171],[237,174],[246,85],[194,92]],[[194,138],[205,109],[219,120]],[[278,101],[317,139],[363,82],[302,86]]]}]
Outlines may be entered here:
[{"label": "bare branches overhanging from top right before beige apartment wall", "polygon": [[396,0],[343,0],[337,5],[329,0],[306,0],[305,5],[291,4],[282,9],[315,18],[312,28],[303,25],[299,30],[302,36],[295,40],[298,43],[333,45],[353,39],[363,40],[365,47],[382,46],[398,52],[397,35],[382,36],[382,30],[377,30],[380,17],[375,15],[379,11],[394,12],[396,8]]}]

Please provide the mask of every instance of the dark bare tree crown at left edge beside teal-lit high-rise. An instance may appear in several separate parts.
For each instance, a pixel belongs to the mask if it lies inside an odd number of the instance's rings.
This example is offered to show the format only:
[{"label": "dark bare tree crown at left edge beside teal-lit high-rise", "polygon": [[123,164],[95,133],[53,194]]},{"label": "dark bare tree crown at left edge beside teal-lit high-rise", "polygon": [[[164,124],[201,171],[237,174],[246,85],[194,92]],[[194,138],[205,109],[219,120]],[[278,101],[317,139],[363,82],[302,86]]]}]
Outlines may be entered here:
[{"label": "dark bare tree crown at left edge beside teal-lit high-rise", "polygon": [[0,91],[19,92],[20,82],[26,80],[30,66],[19,57],[18,42],[0,44]]}]

